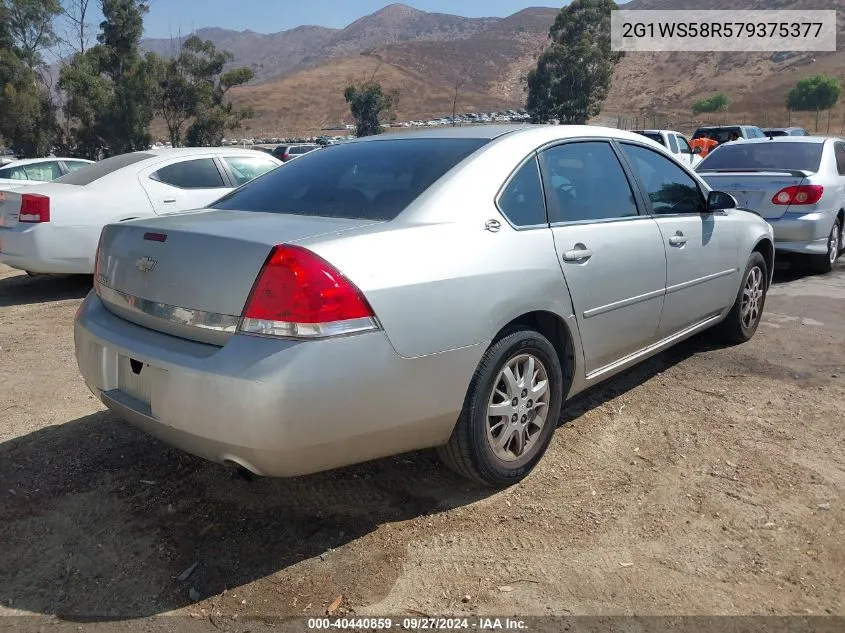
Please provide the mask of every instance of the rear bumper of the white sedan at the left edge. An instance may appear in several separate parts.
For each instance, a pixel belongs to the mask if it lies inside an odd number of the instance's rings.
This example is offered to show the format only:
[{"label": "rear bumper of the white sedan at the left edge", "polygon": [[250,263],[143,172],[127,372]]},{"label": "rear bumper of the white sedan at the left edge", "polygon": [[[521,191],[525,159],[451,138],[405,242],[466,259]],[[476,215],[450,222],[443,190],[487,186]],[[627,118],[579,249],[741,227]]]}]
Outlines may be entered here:
[{"label": "rear bumper of the white sedan at the left edge", "polygon": [[34,273],[90,275],[96,238],[90,249],[89,243],[76,227],[17,224],[0,228],[0,262]]}]

